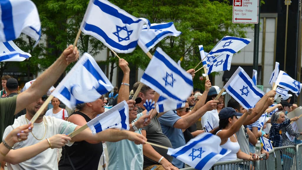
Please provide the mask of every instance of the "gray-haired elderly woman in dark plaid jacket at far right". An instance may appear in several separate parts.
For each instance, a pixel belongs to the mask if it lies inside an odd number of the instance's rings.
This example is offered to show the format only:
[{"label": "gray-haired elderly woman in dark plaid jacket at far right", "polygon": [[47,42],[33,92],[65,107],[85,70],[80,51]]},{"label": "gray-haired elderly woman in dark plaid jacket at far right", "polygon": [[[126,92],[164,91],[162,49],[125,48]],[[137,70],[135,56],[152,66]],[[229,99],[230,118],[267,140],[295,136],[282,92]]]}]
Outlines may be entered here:
[{"label": "gray-haired elderly woman in dark plaid jacket at far right", "polygon": [[300,132],[295,132],[291,126],[292,121],[297,121],[299,118],[294,117],[289,119],[283,112],[276,112],[271,115],[271,129],[269,131],[269,140],[273,141],[274,147],[281,147],[294,145],[288,137],[285,135],[286,132],[294,136],[300,136]]}]

